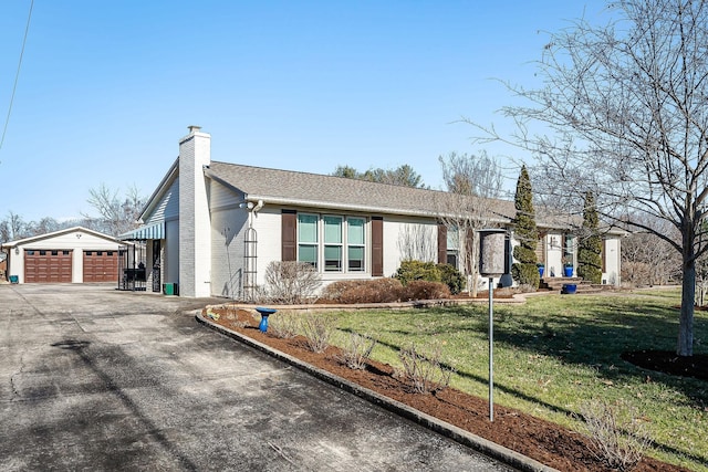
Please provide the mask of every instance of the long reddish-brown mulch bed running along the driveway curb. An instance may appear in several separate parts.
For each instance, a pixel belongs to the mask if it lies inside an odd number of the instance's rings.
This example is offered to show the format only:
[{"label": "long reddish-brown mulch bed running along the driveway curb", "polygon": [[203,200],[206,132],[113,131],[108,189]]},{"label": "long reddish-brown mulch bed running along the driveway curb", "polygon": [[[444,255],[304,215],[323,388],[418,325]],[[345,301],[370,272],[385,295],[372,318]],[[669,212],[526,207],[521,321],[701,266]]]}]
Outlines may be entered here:
[{"label": "long reddish-brown mulch bed running along the driveway curb", "polygon": [[[489,403],[485,399],[454,388],[447,388],[435,395],[415,394],[406,384],[394,377],[394,369],[387,364],[369,360],[365,370],[353,370],[339,360],[342,356],[336,347],[330,346],[324,353],[316,354],[306,348],[303,337],[282,339],[270,333],[261,333],[258,329],[258,322],[247,311],[239,310],[236,316],[233,311],[212,310],[212,312],[220,315],[219,319],[214,321],[215,323],[543,464],[572,472],[607,470],[591,452],[590,440],[583,434],[497,405],[494,421],[490,422]],[[652,458],[644,458],[634,469],[637,472],[685,470]]]}]

